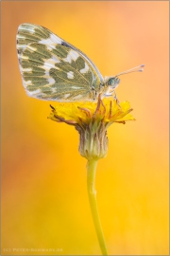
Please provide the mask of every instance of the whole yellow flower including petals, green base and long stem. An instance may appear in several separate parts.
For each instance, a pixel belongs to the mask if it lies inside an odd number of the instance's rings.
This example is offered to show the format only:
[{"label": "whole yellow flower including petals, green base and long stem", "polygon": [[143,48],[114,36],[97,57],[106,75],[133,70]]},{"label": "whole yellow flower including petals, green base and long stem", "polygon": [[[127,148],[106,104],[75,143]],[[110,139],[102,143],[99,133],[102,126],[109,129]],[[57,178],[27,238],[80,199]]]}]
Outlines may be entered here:
[{"label": "whole yellow flower including petals, green base and long stem", "polygon": [[75,126],[79,133],[79,153],[87,158],[87,187],[93,224],[103,255],[108,255],[96,204],[95,172],[98,159],[108,152],[107,129],[114,122],[134,120],[128,101],[101,100],[97,102],[58,103],[51,106],[49,119]]}]

